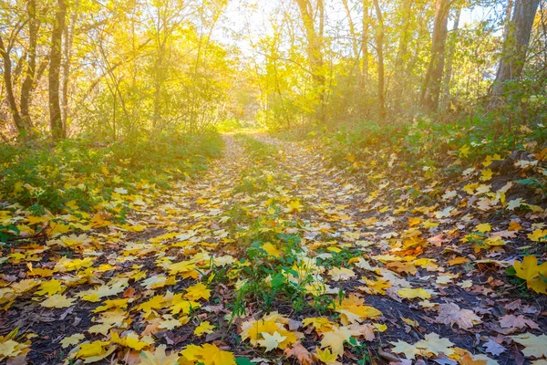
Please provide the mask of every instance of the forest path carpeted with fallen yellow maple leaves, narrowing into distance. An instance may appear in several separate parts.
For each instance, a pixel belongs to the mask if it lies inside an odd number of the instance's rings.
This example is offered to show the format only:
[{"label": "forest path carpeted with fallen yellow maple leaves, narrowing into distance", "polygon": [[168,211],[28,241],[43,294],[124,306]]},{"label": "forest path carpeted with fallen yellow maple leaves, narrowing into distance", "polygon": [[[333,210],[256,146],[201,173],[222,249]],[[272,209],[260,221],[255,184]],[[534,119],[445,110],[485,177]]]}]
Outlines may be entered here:
[{"label": "forest path carpeted with fallen yellow maple leaves, narrowing into distance", "polygon": [[478,259],[454,212],[401,214],[299,143],[225,142],[200,178],[132,197],[126,224],[74,218],[5,252],[0,360],[546,363],[547,300],[504,274],[532,221],[477,222],[498,233]]}]

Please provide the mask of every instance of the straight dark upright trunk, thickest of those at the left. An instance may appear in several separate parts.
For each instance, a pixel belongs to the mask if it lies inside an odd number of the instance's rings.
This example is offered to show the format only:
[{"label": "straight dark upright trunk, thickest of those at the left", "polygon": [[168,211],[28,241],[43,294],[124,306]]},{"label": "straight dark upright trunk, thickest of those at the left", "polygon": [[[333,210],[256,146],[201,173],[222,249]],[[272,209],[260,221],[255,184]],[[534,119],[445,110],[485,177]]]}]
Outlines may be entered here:
[{"label": "straight dark upright trunk, thickest of those at the left", "polygon": [[65,17],[67,4],[65,0],[57,0],[57,14],[51,31],[51,48],[49,51],[49,125],[54,140],[66,137],[63,126],[60,105],[60,70],[62,58],[63,33],[65,31]]}]

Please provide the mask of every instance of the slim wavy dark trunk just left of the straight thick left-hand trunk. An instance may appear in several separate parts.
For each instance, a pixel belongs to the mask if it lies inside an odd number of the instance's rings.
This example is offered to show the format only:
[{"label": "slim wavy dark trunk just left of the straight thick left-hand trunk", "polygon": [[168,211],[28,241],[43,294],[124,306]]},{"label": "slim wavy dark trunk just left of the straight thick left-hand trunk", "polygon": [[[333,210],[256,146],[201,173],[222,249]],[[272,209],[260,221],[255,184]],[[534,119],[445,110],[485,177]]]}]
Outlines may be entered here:
[{"label": "slim wavy dark trunk just left of the straight thick left-hand trunk", "polygon": [[21,86],[21,117],[26,130],[30,130],[30,93],[35,83],[36,75],[36,42],[40,24],[36,19],[36,0],[28,0],[26,3],[28,13],[28,56],[26,60],[26,77]]}]

